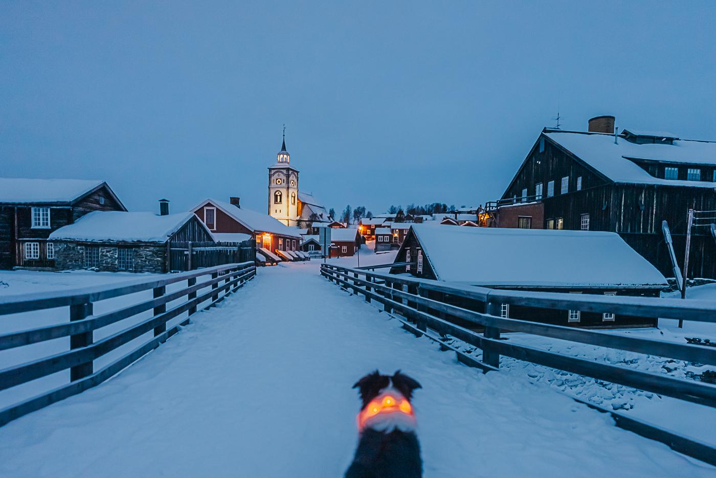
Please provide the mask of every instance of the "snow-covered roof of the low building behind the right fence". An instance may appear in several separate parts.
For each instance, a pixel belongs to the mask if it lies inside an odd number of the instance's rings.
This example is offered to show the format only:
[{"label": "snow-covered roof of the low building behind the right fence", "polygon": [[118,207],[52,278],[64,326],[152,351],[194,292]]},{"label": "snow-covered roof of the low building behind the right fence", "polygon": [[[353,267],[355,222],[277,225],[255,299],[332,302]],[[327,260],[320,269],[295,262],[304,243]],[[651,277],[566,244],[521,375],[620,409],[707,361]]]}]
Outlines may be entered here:
[{"label": "snow-covered roof of the low building behind the right fence", "polygon": [[435,228],[413,232],[440,281],[474,286],[664,286],[667,281],[616,233],[587,230]]}]

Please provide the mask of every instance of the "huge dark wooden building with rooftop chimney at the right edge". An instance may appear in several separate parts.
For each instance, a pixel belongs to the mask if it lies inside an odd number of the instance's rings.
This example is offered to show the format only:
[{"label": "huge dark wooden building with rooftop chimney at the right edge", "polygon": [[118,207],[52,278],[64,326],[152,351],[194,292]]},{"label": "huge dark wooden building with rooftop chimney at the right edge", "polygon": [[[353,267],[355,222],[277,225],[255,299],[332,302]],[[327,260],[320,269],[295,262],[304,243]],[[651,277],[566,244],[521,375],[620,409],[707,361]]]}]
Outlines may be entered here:
[{"label": "huge dark wooden building with rooftop chimney at the right edge", "polygon": [[[716,210],[716,142],[613,132],[614,117],[591,119],[589,132],[543,130],[493,204],[494,225],[618,233],[672,276],[662,221],[669,224],[680,261],[688,210]],[[689,277],[716,278],[709,228],[693,228],[692,234]]]}]

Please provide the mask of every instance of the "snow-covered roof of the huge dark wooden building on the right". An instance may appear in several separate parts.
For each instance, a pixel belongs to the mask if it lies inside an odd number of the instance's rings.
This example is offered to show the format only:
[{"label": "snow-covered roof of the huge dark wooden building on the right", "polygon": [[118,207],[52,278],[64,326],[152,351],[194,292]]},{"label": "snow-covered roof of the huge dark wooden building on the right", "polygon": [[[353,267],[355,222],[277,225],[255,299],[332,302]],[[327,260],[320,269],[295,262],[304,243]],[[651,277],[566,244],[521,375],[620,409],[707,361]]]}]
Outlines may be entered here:
[{"label": "snow-covered roof of the huge dark wooden building on the right", "polygon": [[546,137],[583,160],[614,182],[690,187],[716,187],[716,182],[667,180],[653,177],[626,158],[716,165],[716,142],[674,141],[673,145],[635,143],[614,135],[580,132],[546,132]]}]

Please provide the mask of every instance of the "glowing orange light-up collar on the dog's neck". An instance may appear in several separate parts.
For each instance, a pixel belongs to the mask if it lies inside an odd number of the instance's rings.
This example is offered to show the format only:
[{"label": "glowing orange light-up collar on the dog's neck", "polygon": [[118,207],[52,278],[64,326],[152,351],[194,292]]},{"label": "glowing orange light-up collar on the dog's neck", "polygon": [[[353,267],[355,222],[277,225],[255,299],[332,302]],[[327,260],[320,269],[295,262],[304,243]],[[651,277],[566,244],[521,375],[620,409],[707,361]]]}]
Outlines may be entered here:
[{"label": "glowing orange light-up collar on the dog's neck", "polygon": [[366,428],[415,428],[415,414],[410,401],[401,394],[387,390],[364,406],[357,416],[358,430]]}]

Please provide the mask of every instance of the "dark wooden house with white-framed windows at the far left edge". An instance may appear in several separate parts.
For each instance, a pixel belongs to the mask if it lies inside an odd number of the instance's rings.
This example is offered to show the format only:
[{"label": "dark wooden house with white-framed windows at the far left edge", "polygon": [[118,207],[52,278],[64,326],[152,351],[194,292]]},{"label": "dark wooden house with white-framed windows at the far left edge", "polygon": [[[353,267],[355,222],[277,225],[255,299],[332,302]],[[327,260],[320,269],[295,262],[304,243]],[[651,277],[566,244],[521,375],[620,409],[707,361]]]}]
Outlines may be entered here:
[{"label": "dark wooden house with white-framed windows at the far left edge", "polygon": [[104,181],[0,178],[0,269],[54,268],[54,230],[127,209]]}]

